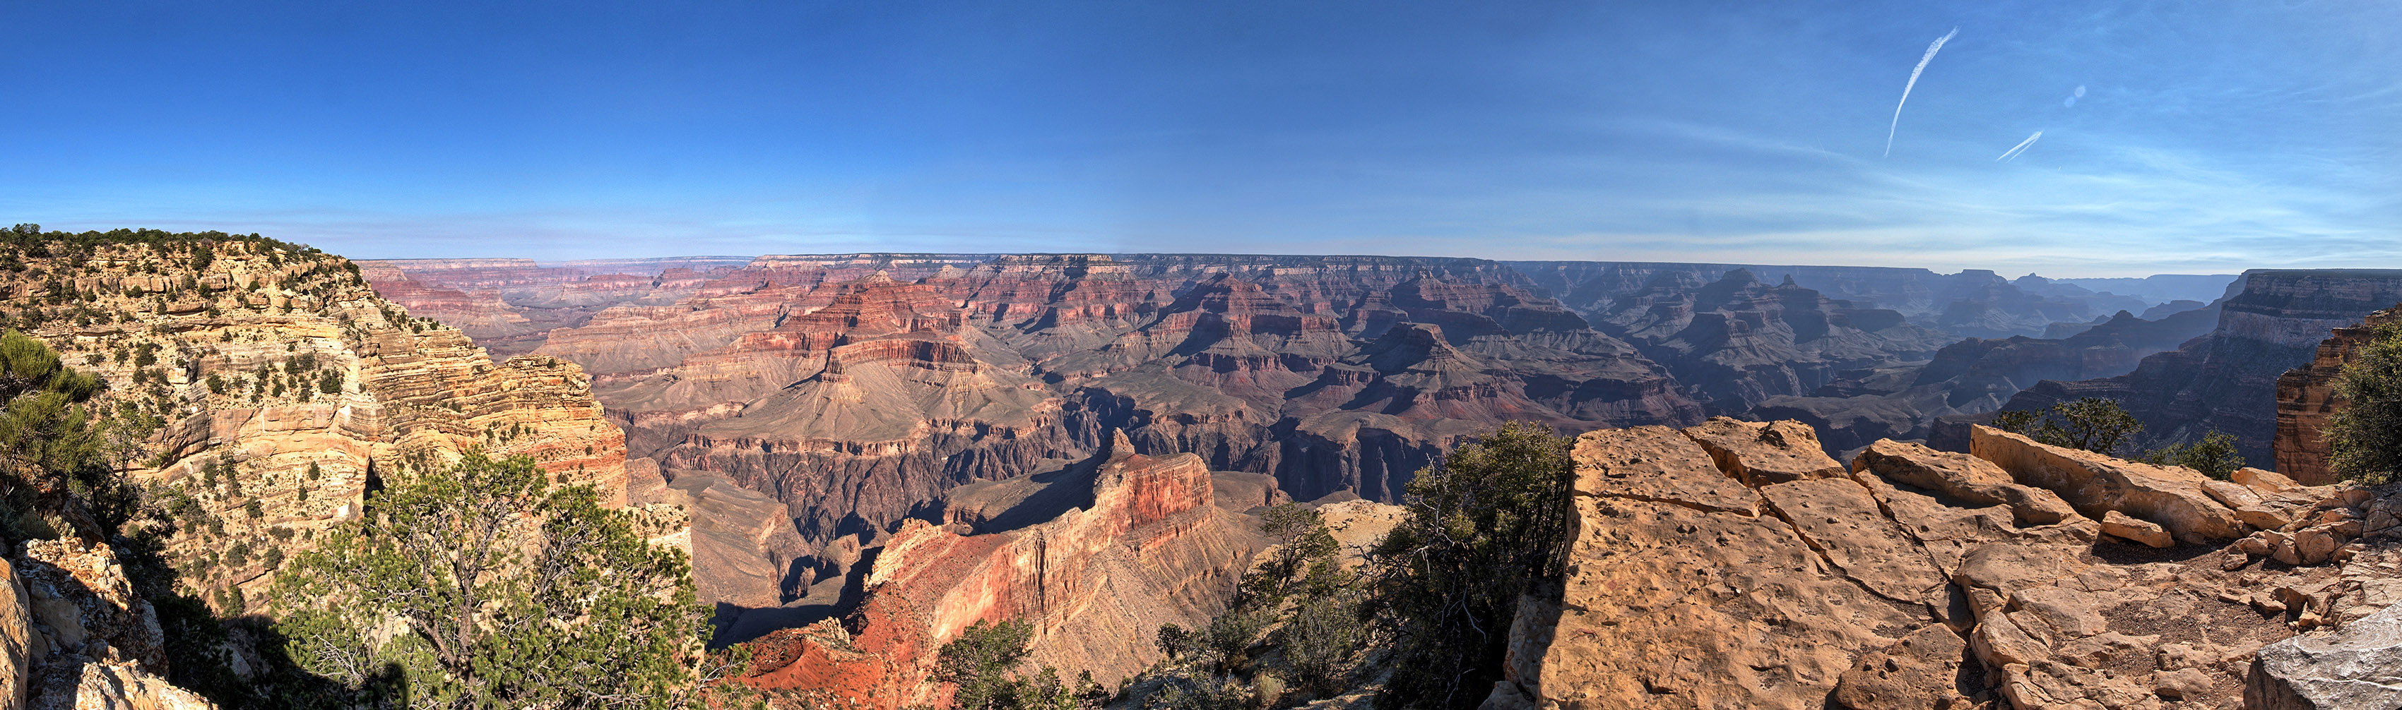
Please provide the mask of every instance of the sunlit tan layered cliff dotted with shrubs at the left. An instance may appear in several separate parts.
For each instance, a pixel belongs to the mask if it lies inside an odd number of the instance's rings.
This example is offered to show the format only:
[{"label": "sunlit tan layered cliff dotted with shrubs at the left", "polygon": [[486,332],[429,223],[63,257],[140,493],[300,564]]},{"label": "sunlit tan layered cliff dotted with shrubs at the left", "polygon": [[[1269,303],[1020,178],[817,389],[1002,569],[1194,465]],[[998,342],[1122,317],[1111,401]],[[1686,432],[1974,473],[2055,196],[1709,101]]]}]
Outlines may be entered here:
[{"label": "sunlit tan layered cliff dotted with shrubs at the left", "polygon": [[0,285],[108,381],[110,456],[178,518],[166,556],[223,614],[360,513],[370,475],[483,446],[625,504],[625,434],[564,360],[492,362],[317,252],[228,240],[53,254]]}]

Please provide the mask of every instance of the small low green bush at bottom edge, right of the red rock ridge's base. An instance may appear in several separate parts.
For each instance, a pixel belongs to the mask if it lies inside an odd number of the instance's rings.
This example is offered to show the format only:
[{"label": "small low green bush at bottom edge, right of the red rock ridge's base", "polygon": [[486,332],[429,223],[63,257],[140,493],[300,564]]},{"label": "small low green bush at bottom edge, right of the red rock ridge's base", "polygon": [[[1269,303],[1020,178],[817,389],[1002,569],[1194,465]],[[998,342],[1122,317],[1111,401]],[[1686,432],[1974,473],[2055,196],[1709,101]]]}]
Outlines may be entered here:
[{"label": "small low green bush at bottom edge, right of the red rock ridge's base", "polygon": [[1026,662],[1033,624],[1009,619],[975,621],[958,631],[934,655],[934,681],[954,684],[951,708],[961,710],[1086,710],[1100,708],[1107,693],[1083,674],[1078,684],[1059,681],[1059,669],[1011,674]]}]

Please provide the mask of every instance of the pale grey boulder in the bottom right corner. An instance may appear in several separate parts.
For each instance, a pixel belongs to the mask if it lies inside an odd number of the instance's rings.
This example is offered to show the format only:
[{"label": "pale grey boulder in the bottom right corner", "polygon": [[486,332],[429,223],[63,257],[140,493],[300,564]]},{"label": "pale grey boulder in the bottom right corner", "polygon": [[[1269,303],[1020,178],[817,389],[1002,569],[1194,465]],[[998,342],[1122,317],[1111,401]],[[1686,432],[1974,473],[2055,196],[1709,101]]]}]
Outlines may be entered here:
[{"label": "pale grey boulder in the bottom right corner", "polygon": [[2243,708],[2402,708],[2402,604],[2260,648]]}]

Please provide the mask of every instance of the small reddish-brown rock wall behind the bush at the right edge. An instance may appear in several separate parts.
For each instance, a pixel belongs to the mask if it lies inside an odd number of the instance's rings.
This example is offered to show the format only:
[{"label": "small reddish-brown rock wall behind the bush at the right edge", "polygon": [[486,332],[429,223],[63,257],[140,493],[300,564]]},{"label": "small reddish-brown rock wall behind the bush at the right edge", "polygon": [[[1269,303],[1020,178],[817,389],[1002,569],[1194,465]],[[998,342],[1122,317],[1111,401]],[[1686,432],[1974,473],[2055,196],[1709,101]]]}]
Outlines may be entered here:
[{"label": "small reddish-brown rock wall behind the bush at the right edge", "polygon": [[2335,379],[2344,374],[2344,365],[2359,360],[2359,348],[2376,336],[2376,329],[2392,321],[2402,321],[2402,307],[2335,329],[2335,336],[2318,341],[2318,355],[2308,365],[2277,377],[2277,473],[2308,485],[2335,482],[2335,470],[2328,468],[2332,451],[2323,434],[2335,410],[2344,405],[2335,396]]}]

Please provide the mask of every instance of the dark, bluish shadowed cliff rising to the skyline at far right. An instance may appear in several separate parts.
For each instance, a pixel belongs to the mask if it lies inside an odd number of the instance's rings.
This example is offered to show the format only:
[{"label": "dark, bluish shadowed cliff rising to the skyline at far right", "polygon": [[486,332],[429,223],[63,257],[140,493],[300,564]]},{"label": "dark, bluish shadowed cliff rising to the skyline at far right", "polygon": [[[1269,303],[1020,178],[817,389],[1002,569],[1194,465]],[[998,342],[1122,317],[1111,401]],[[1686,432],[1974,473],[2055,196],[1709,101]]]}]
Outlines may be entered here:
[{"label": "dark, bluish shadowed cliff rising to the skyline at far right", "polygon": [[2145,357],[2128,374],[2030,386],[2006,408],[2116,398],[2143,420],[2145,441],[2198,441],[2217,429],[2236,437],[2246,461],[2272,463],[2277,377],[2308,365],[2332,329],[2395,302],[2402,271],[2248,271],[2210,336]]}]

